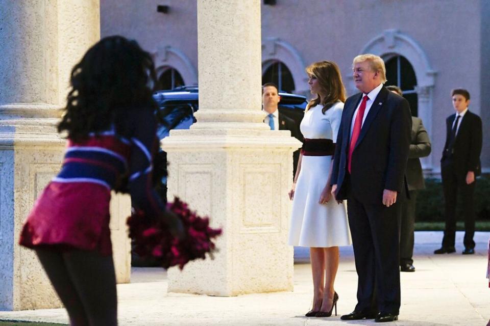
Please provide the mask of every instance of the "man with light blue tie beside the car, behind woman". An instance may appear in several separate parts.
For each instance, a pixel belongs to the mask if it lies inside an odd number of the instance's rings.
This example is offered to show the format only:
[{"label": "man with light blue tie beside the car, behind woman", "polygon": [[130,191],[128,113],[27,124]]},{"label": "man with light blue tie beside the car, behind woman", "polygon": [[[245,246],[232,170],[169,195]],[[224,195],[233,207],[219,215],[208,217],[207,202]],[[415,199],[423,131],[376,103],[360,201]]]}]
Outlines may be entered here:
[{"label": "man with light blue tie beside the car, behind woman", "polygon": [[[276,84],[266,83],[262,86],[262,105],[263,110],[267,113],[264,122],[271,128],[271,130],[289,130],[291,136],[303,142],[303,135],[300,132],[299,125],[291,118],[281,114],[278,110],[281,97]],[[293,160],[293,176],[296,174],[296,167],[298,166],[298,159],[300,157],[300,150],[296,150],[292,154]]]}]

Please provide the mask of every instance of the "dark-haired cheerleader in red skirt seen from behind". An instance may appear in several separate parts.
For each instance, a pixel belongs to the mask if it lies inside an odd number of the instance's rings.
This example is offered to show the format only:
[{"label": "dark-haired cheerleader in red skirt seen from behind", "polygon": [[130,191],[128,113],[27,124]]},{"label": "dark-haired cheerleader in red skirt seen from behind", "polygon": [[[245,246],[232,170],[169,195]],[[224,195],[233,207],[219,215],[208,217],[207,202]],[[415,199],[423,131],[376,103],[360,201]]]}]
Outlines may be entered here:
[{"label": "dark-haired cheerleader in red skirt seen from behind", "polygon": [[112,36],[91,47],[71,71],[58,131],[68,144],[59,174],[23,226],[20,244],[36,251],[71,325],[117,324],[109,230],[111,190],[134,208],[182,233],[153,191],[158,142],[153,60],[135,41]]}]

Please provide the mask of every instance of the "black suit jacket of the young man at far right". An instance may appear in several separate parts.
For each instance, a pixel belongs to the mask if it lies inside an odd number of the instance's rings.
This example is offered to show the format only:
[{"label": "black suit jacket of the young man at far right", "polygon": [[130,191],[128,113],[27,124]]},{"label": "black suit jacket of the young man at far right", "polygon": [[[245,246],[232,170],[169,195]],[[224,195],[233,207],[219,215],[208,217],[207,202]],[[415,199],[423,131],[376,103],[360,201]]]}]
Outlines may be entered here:
[{"label": "black suit jacket of the young man at far right", "polygon": [[451,149],[448,148],[448,138],[455,118],[456,114],[452,114],[446,119],[446,144],[443,157],[440,159],[441,167],[444,168],[447,164],[452,163],[456,173],[467,174],[468,171],[473,171],[475,175],[480,175],[481,119],[468,110],[461,120],[454,146]]}]

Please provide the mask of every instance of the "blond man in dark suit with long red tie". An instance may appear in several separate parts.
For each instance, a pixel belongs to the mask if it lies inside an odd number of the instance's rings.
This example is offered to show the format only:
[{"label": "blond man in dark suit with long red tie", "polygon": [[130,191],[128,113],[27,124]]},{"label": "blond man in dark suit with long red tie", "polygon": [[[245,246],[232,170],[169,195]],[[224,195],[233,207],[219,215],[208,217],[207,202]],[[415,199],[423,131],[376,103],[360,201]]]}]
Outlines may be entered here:
[{"label": "blond man in dark suit with long red tie", "polygon": [[383,86],[380,57],[354,58],[353,76],[361,93],[344,105],[331,178],[335,198],[347,199],[358,276],[357,305],[340,318],[393,321],[400,309],[400,200],[406,195],[410,108]]}]

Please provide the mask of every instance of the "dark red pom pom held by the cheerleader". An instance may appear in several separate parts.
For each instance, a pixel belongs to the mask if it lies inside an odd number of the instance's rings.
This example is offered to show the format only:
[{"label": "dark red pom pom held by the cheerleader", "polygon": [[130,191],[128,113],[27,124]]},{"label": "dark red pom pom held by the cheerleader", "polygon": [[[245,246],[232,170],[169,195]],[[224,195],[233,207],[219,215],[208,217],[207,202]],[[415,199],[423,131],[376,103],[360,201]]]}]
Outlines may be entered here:
[{"label": "dark red pom pom held by the cheerleader", "polygon": [[156,259],[164,268],[179,265],[182,269],[191,260],[205,259],[206,253],[213,259],[215,245],[212,239],[220,235],[222,230],[211,228],[208,218],[201,218],[178,197],[175,197],[173,203],[167,203],[167,210],[181,220],[185,236],[182,239],[174,237],[164,218],[152,219],[142,210],[133,210],[127,224],[136,254]]}]

